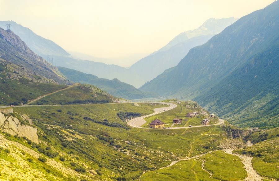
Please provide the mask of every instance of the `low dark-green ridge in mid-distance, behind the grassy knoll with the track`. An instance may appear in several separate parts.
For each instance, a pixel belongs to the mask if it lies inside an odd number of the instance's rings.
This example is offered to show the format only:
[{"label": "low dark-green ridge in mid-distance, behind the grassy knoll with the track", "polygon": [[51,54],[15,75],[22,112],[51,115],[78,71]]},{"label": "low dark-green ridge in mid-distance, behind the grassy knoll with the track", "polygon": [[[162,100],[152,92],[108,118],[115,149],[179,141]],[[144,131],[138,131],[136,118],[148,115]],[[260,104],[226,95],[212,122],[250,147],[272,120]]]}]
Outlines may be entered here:
[{"label": "low dark-green ridge in mid-distance, behind the grassy knoll with the track", "polygon": [[121,97],[124,99],[143,99],[158,96],[154,93],[139,91],[134,86],[121,82],[117,78],[108,80],[105,78],[98,78],[92,74],[85,74],[77,70],[67,69],[64,67],[58,67],[58,69],[70,81],[95,85],[100,89],[107,91],[114,97]]}]

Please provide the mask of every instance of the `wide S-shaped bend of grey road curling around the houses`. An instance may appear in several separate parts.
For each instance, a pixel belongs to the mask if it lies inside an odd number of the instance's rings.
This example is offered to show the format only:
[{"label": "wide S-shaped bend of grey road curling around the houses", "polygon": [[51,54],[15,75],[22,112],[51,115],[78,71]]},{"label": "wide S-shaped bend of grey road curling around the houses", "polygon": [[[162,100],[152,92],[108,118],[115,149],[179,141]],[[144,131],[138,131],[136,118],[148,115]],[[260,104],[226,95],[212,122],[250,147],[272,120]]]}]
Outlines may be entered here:
[{"label": "wide S-shaped bend of grey road curling around the houses", "polygon": [[[169,111],[169,110],[171,110],[171,109],[176,107],[176,104],[173,104],[173,103],[164,103],[164,102],[148,102],[148,103],[161,103],[161,104],[169,105],[169,107],[156,108],[156,109],[154,109],[154,113],[152,113],[152,114],[149,114],[149,115],[146,115],[146,116],[137,117],[135,119],[127,121],[128,125],[130,125],[130,126],[132,126],[134,128],[153,129],[153,128],[143,128],[143,127],[140,127],[140,126],[142,126],[143,124],[146,123],[144,118],[149,117],[149,116],[153,116],[153,115],[165,112],[165,111]],[[225,122],[224,120],[219,119],[219,123],[217,123],[217,124],[198,125],[198,126],[191,126],[191,127],[184,126],[184,127],[175,127],[175,128],[168,128],[168,129],[185,129],[185,128],[197,128],[197,127],[204,127],[204,126],[214,126],[214,125],[223,124],[224,122]]]}]

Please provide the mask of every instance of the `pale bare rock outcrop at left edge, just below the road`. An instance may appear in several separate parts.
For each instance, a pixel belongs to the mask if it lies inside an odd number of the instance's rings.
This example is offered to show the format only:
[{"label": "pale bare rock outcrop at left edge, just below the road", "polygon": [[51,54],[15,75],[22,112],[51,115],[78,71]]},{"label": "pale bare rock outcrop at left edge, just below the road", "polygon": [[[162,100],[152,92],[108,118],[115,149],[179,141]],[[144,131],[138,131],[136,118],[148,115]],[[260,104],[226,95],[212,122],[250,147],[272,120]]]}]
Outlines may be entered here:
[{"label": "pale bare rock outcrop at left edge, just below the road", "polygon": [[[20,117],[32,123],[32,120],[28,116],[24,115]],[[26,137],[36,144],[39,143],[37,128],[22,124],[17,117],[12,115],[5,116],[2,112],[0,113],[0,129],[13,136],[18,135],[20,137]]]}]

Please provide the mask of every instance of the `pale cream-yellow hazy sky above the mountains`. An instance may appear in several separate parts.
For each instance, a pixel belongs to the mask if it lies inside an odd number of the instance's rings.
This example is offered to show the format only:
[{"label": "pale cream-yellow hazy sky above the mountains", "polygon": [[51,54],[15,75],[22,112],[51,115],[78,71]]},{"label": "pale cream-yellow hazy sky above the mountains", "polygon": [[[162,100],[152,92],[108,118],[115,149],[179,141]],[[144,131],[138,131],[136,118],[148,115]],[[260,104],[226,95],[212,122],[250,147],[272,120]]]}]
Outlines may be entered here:
[{"label": "pale cream-yellow hazy sky above the mountains", "polygon": [[209,18],[241,18],[272,2],[274,0],[0,0],[0,20],[13,20],[29,27],[65,50],[130,66]]}]

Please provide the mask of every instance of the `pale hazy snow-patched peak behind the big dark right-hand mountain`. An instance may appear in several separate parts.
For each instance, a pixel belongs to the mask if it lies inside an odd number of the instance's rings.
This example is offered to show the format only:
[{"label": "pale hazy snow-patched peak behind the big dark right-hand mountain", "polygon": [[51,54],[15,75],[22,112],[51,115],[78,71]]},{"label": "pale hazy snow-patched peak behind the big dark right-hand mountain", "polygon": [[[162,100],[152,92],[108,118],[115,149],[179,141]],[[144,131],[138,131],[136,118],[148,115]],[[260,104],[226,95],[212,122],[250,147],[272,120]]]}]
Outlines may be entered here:
[{"label": "pale hazy snow-patched peak behind the big dark right-hand mountain", "polygon": [[166,46],[137,61],[129,68],[130,71],[138,72],[142,77],[141,82],[136,82],[137,85],[133,85],[139,87],[157,75],[162,74],[164,70],[176,66],[191,48],[205,44],[212,36],[218,34],[235,21],[236,19],[233,17],[224,19],[210,18],[197,29],[180,33]]}]

